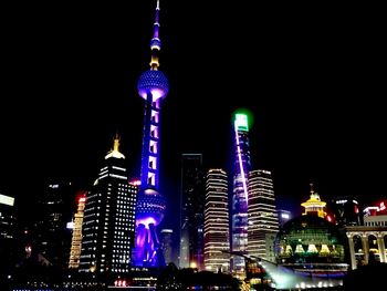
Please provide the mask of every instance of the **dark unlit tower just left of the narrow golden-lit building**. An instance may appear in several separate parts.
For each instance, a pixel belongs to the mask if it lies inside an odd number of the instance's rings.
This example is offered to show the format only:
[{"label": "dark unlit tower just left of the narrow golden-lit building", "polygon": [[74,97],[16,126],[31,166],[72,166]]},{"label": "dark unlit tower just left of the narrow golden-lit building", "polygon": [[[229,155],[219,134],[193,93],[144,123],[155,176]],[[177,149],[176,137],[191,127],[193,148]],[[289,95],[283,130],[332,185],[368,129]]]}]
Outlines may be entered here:
[{"label": "dark unlit tower just left of the narrow golden-lit building", "polygon": [[38,199],[38,219],[32,229],[33,251],[61,268],[69,266],[71,231],[66,224],[72,219],[74,195],[71,181],[49,180]]}]

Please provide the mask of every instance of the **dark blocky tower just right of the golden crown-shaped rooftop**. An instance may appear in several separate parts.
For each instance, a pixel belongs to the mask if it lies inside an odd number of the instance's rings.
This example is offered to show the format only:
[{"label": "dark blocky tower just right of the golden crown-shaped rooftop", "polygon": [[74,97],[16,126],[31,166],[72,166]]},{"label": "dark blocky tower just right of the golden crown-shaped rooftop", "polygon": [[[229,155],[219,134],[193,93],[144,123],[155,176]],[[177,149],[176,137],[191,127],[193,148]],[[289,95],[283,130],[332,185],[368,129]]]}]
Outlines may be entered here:
[{"label": "dark blocky tower just right of the golden crown-shaped rooftop", "polygon": [[355,197],[343,196],[334,198],[331,207],[338,227],[362,225],[359,204]]}]

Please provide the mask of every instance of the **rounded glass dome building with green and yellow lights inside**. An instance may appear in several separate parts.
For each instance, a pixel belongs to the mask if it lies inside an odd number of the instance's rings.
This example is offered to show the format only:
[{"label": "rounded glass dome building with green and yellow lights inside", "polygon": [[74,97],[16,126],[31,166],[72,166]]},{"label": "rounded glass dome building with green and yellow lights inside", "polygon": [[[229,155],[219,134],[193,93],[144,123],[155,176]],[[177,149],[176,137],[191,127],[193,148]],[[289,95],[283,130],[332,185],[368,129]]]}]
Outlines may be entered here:
[{"label": "rounded glass dome building with green and yellow lights inside", "polygon": [[348,268],[344,246],[335,225],[318,216],[303,215],[289,220],[276,235],[275,258],[295,272],[344,276]]}]

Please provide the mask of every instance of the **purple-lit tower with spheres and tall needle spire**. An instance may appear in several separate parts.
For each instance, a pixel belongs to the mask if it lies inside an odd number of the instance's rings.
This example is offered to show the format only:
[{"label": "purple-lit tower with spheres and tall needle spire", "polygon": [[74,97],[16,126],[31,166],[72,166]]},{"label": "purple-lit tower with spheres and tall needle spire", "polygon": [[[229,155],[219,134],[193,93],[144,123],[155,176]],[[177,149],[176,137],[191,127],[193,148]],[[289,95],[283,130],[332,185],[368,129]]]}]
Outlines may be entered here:
[{"label": "purple-lit tower with spheres and tall needle spire", "polygon": [[166,200],[159,193],[160,162],[160,111],[161,102],[169,91],[168,79],[158,70],[158,53],[161,49],[159,39],[159,1],[156,6],[154,37],[150,40],[150,69],[145,71],[137,83],[138,94],[145,100],[143,155],[140,190],[136,206],[136,246],[135,266],[164,266],[163,252],[156,227],[161,222],[166,211]]}]

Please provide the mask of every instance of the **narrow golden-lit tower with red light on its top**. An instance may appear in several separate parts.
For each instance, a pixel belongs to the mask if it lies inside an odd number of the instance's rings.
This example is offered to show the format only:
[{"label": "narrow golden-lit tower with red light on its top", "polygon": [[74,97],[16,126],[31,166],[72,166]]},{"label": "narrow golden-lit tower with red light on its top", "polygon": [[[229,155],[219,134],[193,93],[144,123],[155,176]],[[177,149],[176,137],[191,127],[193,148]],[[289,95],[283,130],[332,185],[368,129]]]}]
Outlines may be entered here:
[{"label": "narrow golden-lit tower with red light on its top", "polygon": [[76,197],[77,209],[74,215],[73,237],[71,240],[69,268],[79,268],[82,249],[82,224],[86,205],[86,191],[80,193]]}]

